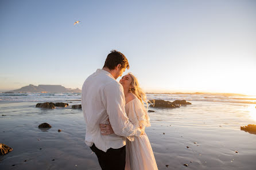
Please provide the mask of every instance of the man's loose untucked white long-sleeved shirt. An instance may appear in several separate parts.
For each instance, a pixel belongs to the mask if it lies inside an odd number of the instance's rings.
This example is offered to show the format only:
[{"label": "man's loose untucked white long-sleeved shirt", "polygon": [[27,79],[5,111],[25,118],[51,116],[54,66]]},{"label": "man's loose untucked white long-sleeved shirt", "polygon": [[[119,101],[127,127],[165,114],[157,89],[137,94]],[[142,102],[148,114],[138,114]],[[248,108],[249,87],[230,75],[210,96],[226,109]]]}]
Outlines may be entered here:
[{"label": "man's loose untucked white long-sleeved shirt", "polygon": [[[139,136],[141,131],[129,121],[125,113],[125,95],[122,85],[103,69],[97,69],[84,81],[82,88],[82,110],[86,121],[88,146],[106,152],[126,145],[127,136]],[[99,124],[109,118],[114,134],[101,135]]]}]

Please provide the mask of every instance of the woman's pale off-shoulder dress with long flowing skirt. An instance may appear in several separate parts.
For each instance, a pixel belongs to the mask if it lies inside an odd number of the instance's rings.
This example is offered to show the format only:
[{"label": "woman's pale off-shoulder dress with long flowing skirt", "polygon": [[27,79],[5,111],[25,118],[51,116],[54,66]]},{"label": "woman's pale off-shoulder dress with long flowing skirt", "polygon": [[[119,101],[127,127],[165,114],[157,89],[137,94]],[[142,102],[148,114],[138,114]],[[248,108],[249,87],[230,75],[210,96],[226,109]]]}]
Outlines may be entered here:
[{"label": "woman's pale off-shoulder dress with long flowing skirt", "polygon": [[[129,120],[136,127],[143,129],[150,126],[148,112],[136,97],[125,105]],[[137,137],[127,137],[125,170],[157,170],[157,163],[146,133]]]}]

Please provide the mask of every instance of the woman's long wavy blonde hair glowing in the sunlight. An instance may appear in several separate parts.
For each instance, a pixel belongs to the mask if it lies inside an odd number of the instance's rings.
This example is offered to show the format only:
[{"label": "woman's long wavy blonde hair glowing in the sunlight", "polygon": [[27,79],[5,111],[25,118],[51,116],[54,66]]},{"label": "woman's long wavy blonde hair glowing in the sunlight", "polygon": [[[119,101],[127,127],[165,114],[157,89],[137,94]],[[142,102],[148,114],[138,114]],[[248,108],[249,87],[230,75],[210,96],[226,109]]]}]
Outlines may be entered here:
[{"label": "woman's long wavy blonde hair glowing in the sunlight", "polygon": [[147,97],[146,97],[146,93],[143,92],[143,90],[139,87],[139,82],[138,79],[132,74],[132,73],[128,73],[131,76],[131,88],[129,89],[130,93],[135,94],[135,96],[138,97],[138,99],[141,101],[141,103],[143,104],[143,101],[146,103],[147,105],[147,110],[148,110],[148,102],[147,102]]}]

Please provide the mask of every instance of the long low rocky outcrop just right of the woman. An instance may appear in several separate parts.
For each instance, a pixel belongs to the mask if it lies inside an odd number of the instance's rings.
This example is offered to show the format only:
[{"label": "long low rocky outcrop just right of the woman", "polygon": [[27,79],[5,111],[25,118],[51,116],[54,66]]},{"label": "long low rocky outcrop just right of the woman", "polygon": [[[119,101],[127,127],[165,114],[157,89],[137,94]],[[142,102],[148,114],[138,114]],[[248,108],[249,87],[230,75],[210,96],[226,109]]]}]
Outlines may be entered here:
[{"label": "long low rocky outcrop just right of the woman", "polygon": [[179,108],[181,105],[191,105],[191,102],[185,100],[175,100],[173,102],[165,100],[150,100],[150,107],[153,108]]}]

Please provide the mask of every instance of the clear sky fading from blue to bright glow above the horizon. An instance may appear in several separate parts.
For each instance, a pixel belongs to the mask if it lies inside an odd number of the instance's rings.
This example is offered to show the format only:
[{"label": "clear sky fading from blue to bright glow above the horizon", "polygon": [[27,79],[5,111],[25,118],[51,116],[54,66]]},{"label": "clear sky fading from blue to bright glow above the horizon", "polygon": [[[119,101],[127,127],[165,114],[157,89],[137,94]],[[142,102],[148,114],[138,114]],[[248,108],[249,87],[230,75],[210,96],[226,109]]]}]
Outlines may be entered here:
[{"label": "clear sky fading from blue to bright glow above the horizon", "polygon": [[255,30],[253,0],[0,0],[0,91],[81,89],[116,49],[146,92],[256,94]]}]

